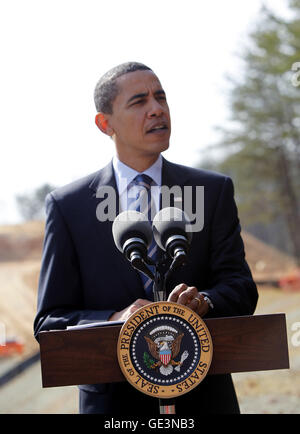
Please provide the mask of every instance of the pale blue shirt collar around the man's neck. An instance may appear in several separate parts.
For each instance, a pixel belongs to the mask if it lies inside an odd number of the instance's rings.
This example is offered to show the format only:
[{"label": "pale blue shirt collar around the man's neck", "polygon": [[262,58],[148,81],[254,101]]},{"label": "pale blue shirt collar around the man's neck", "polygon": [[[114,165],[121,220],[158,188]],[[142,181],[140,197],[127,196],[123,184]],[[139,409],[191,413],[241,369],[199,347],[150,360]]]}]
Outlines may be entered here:
[{"label": "pale blue shirt collar around the man's neck", "polygon": [[[126,166],[126,164],[122,163],[122,161],[120,161],[116,155],[113,157],[113,168],[119,194],[122,194],[131,181],[133,181],[140,172],[137,172],[131,167]],[[159,157],[155,163],[142,173],[150,176],[156,185],[161,186],[161,171],[162,156],[159,154]]]}]

